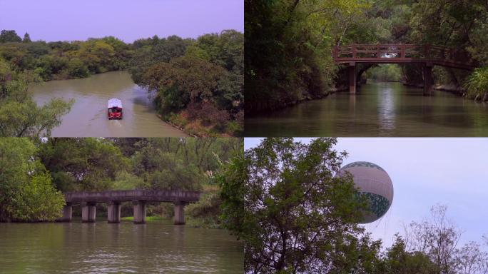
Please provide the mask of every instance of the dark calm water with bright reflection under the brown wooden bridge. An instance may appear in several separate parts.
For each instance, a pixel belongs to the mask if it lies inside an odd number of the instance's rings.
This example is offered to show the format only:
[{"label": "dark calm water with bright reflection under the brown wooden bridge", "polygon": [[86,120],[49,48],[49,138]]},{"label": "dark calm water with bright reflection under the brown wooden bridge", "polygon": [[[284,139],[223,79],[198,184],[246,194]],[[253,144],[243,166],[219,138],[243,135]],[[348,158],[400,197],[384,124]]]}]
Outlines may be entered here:
[{"label": "dark calm water with bright reflection under the brown wooden bridge", "polygon": [[245,136],[488,136],[488,103],[444,91],[423,96],[401,83],[367,83],[263,116]]}]

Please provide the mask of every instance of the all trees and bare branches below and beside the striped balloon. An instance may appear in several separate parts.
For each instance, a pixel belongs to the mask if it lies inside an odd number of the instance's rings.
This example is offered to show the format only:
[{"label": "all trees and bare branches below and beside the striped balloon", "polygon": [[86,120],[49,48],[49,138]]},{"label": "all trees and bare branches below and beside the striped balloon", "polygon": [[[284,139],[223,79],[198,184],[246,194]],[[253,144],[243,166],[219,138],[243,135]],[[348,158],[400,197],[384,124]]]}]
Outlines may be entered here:
[{"label": "all trees and bare branches below and beside the striped balloon", "polygon": [[[445,205],[405,224],[391,246],[357,223],[367,210],[335,138],[265,138],[218,176],[223,224],[245,242],[245,273],[488,273],[488,234],[461,244]],[[480,235],[481,236],[481,235]]]}]

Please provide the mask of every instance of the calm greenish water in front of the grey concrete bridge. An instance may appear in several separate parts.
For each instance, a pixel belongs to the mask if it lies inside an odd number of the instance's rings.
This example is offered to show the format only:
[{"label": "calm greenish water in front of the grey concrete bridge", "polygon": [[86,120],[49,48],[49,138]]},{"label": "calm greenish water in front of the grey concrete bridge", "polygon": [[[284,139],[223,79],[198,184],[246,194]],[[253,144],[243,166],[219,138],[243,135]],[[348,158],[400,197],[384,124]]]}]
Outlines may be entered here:
[{"label": "calm greenish water in front of the grey concrete bridge", "polygon": [[226,230],[154,221],[0,223],[0,273],[243,273]]}]

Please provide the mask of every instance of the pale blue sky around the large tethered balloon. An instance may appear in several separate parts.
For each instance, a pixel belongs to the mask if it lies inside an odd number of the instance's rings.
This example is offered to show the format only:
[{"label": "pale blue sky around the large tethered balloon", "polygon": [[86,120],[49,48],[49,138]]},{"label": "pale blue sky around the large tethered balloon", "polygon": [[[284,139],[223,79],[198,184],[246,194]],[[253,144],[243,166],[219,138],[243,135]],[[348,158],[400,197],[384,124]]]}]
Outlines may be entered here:
[{"label": "pale blue sky around the large tethered balloon", "polygon": [[[309,142],[310,138],[295,138]],[[260,138],[245,138],[245,148]],[[403,224],[429,216],[432,205],[447,205],[447,216],[464,233],[461,243],[488,235],[488,138],[338,138],[344,164],[370,161],[392,178],[395,196],[383,218],[365,225],[373,238],[392,244]]]}]

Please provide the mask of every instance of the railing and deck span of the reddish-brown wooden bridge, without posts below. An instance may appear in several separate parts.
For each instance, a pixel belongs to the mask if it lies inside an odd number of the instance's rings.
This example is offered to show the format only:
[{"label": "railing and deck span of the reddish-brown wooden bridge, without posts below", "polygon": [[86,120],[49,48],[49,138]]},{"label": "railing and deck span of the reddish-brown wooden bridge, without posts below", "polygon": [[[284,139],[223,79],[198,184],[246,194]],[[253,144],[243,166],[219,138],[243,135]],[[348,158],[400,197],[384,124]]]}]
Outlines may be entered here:
[{"label": "railing and deck span of the reddish-brown wooden bridge, without posts below", "polygon": [[332,57],[337,64],[362,63],[422,63],[439,66],[472,69],[474,62],[469,56],[443,46],[415,44],[352,44],[335,46]]}]

